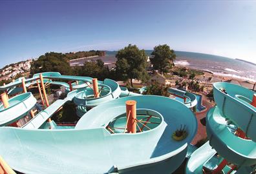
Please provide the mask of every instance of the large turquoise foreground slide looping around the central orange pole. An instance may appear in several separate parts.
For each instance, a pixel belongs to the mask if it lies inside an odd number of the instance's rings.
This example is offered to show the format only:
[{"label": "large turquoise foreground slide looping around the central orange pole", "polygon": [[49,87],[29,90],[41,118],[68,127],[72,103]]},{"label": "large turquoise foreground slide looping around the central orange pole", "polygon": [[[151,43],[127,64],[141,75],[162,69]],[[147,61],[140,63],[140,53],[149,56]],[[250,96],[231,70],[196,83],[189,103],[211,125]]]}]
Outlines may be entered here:
[{"label": "large turquoise foreground slide looping around the central orange pole", "polygon": [[[125,101],[154,114],[159,124],[137,133],[111,133],[110,122],[125,113]],[[181,112],[182,110],[182,112]],[[157,114],[156,114],[157,113]],[[186,139],[172,139],[186,125]],[[180,102],[160,96],[123,97],[92,108],[75,129],[0,128],[0,154],[23,173],[171,173],[183,162],[197,120]],[[10,148],[12,147],[12,148]]]}]

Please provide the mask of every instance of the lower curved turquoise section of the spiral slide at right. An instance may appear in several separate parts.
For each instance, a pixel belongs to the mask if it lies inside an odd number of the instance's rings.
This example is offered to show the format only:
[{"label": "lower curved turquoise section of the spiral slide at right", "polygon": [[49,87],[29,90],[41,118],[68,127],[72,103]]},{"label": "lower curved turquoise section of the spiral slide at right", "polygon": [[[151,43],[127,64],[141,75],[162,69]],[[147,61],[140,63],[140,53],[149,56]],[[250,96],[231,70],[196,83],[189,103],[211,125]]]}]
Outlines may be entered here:
[{"label": "lower curved turquoise section of the spiral slide at right", "polygon": [[256,164],[256,142],[234,135],[228,128],[228,122],[222,117],[219,107],[215,106],[208,111],[206,122],[209,144],[224,159],[237,166]]}]

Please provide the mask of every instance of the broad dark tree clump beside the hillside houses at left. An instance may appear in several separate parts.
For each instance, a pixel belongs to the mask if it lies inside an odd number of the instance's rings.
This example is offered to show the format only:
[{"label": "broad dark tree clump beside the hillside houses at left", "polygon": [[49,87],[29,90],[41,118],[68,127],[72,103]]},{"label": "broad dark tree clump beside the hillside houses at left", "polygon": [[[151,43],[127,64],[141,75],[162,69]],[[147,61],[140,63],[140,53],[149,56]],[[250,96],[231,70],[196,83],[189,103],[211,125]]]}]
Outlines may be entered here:
[{"label": "broad dark tree clump beside the hillside houses at left", "polygon": [[36,61],[33,61],[30,68],[30,74],[40,72],[59,72],[61,74],[72,73],[67,56],[63,53],[50,52],[41,55]]}]

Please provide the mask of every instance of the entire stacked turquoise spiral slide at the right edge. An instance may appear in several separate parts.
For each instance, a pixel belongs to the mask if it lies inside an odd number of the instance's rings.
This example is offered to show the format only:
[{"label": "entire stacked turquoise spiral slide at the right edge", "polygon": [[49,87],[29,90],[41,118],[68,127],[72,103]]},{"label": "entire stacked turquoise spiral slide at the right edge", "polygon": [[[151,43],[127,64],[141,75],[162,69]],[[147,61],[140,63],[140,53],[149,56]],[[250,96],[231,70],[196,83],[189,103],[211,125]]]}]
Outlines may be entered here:
[{"label": "entire stacked turquoise spiral slide at the right edge", "polygon": [[[223,159],[238,166],[237,171],[232,173],[250,173],[253,170],[251,166],[256,164],[256,108],[250,104],[254,92],[226,82],[216,82],[213,87],[217,106],[208,111],[206,118],[209,142],[191,154],[187,162],[187,173],[202,173],[200,170],[208,161],[217,167],[220,161],[213,162],[216,157],[211,157],[212,154],[206,151],[217,151]],[[237,128],[251,139],[235,135]],[[226,166],[224,173],[228,173],[229,169]]]}]

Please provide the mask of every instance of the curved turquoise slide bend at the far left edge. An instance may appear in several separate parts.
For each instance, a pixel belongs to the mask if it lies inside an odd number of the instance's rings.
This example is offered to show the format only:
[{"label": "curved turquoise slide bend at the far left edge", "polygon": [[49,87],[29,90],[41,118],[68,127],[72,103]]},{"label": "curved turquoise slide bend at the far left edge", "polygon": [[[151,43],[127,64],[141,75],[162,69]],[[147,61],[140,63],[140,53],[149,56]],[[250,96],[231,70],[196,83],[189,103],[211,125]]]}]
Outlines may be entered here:
[{"label": "curved turquoise slide bend at the far left edge", "polygon": [[27,92],[12,97],[8,102],[8,108],[4,108],[3,104],[0,106],[0,126],[6,126],[27,115],[36,104],[36,99],[32,93]]}]

